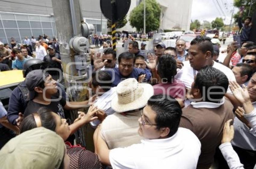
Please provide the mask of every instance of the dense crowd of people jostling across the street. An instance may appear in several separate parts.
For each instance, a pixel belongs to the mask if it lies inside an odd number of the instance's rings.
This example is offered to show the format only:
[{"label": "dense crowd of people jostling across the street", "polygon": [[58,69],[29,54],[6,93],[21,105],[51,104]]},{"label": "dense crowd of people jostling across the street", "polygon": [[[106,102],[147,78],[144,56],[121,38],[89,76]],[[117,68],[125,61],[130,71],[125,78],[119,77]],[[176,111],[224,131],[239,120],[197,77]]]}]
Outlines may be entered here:
[{"label": "dense crowd of people jostling across the street", "polygon": [[[181,39],[175,48],[153,40],[152,52],[132,40],[119,56],[105,44],[102,55],[91,53],[94,95],[80,102],[69,101],[62,73],[44,71],[62,72],[56,39],[25,38],[12,51],[0,44],[8,54],[1,59],[14,53],[12,68],[25,78],[7,111],[0,102],[1,168],[255,168],[256,46],[245,35],[242,46],[228,46],[223,63],[205,36],[188,51]],[[66,120],[85,105],[87,112]],[[94,152],[73,145],[86,124],[95,130]]]}]

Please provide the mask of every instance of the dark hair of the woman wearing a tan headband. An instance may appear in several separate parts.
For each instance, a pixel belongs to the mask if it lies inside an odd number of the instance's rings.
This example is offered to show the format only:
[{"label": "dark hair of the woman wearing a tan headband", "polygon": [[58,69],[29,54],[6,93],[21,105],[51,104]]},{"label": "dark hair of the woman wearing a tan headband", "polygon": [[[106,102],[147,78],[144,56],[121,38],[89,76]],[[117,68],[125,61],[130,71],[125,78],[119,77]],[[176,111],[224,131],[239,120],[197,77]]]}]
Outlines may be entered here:
[{"label": "dark hair of the woman wearing a tan headband", "polygon": [[[42,127],[55,132],[56,119],[52,115],[52,111],[46,107],[41,107],[34,114],[38,114],[42,123]],[[20,133],[36,128],[36,121],[33,114],[26,116],[21,122]]]}]

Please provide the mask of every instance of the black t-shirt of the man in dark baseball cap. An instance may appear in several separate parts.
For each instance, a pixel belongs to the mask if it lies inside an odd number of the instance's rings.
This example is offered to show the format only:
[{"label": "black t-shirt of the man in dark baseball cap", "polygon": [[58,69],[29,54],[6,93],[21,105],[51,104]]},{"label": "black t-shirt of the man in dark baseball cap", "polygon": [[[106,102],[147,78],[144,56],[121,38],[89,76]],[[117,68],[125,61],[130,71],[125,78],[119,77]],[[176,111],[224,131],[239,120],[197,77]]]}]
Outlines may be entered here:
[{"label": "black t-shirt of the man in dark baseball cap", "polygon": [[[56,99],[56,97],[52,97],[51,99]],[[60,101],[51,101],[51,103],[49,105],[44,105],[41,103],[36,103],[33,100],[30,100],[27,104],[27,108],[24,112],[24,117],[35,113],[36,111],[38,111],[39,108],[41,107],[46,107],[49,108],[50,110],[52,110],[54,113],[58,114],[59,116],[61,116],[61,118],[65,118],[64,115],[64,110],[63,107],[66,105],[66,100],[61,97]]]}]

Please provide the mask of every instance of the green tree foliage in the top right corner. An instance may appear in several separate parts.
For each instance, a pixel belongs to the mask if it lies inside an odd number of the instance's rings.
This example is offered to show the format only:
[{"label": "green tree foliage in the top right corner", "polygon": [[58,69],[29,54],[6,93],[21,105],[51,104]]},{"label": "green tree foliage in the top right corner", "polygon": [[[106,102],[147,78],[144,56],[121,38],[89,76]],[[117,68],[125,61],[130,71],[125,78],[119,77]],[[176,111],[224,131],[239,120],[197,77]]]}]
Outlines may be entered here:
[{"label": "green tree foliage in the top right corner", "polygon": [[[242,21],[245,20],[245,17],[248,16],[248,13],[249,13],[249,9],[250,9],[250,6],[251,6],[251,10],[250,10],[250,16],[253,15],[253,13],[256,11],[256,1],[253,0],[252,1],[252,5],[251,5],[251,0],[234,0],[234,6],[235,7],[244,7],[244,12],[243,12],[243,15],[242,15]],[[239,17],[239,12],[234,14],[233,18],[235,18],[235,22],[238,22],[238,17]]]}]

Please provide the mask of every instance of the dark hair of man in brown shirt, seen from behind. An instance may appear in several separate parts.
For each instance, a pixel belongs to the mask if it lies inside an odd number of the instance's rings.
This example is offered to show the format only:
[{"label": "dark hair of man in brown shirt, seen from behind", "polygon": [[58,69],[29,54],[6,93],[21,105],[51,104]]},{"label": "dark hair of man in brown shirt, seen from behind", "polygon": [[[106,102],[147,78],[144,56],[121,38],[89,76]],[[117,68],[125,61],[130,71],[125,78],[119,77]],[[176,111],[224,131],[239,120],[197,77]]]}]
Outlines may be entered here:
[{"label": "dark hair of man in brown shirt, seen from behind", "polygon": [[200,90],[204,102],[215,103],[223,98],[228,86],[229,80],[227,76],[211,66],[203,67],[197,73],[194,83],[194,87]]}]

